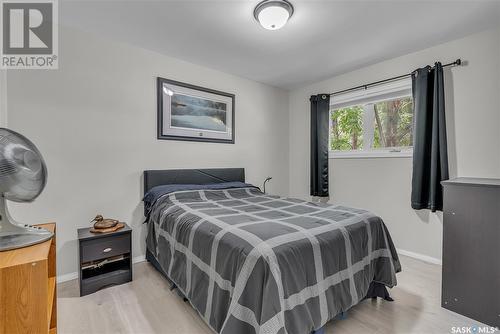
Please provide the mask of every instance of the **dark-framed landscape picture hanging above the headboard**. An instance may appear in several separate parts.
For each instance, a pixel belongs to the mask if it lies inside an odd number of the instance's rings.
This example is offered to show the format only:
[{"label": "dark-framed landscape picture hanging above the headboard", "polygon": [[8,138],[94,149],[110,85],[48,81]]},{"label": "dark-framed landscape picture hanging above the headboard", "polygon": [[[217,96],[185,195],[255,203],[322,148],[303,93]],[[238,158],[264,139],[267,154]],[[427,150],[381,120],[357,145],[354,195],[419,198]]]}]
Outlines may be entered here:
[{"label": "dark-framed landscape picture hanging above the headboard", "polygon": [[158,139],[234,144],[234,94],[157,79]]}]

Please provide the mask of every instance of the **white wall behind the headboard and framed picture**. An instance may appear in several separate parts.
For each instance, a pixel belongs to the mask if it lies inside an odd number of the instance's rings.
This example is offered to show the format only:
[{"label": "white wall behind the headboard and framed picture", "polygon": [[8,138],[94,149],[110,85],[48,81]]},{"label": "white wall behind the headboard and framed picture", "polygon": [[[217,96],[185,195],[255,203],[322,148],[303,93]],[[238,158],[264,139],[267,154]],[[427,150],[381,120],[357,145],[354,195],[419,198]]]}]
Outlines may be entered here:
[{"label": "white wall behind the headboard and framed picture", "polygon": [[[77,270],[76,229],[97,214],[128,222],[144,254],[145,169],[245,167],[288,193],[287,92],[90,34],[60,29],[59,70],[10,71],[8,125],[43,153],[49,179],[23,223],[56,221],[58,273]],[[156,77],[236,94],[236,144],[156,139]]]}]

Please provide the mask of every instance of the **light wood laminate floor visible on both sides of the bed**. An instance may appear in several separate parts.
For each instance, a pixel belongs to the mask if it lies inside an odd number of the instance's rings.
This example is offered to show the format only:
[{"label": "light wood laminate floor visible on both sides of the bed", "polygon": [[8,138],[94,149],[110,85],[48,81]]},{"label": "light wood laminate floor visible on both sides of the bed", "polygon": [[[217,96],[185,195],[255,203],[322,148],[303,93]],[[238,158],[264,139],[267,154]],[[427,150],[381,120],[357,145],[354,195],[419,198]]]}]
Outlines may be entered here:
[{"label": "light wood laminate floor visible on both sides of the bed", "polygon": [[[480,325],[441,308],[440,266],[405,256],[401,262],[398,286],[390,291],[394,302],[363,301],[347,319],[330,322],[326,333],[451,333],[452,326]],[[58,320],[61,334],[213,334],[147,262],[134,265],[133,282],[85,297],[78,296],[76,280],[59,284]]]}]

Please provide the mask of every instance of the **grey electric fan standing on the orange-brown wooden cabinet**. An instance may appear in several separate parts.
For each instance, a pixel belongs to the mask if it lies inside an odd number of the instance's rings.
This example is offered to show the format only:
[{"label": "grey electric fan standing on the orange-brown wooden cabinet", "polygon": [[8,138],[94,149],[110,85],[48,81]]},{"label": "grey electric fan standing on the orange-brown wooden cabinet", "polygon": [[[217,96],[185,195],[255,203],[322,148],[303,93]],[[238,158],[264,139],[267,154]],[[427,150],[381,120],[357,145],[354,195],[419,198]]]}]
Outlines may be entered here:
[{"label": "grey electric fan standing on the orange-brown wooden cabinet", "polygon": [[5,201],[32,202],[47,182],[47,167],[36,146],[23,135],[0,128],[0,251],[43,242],[53,233],[19,224],[9,215]]}]

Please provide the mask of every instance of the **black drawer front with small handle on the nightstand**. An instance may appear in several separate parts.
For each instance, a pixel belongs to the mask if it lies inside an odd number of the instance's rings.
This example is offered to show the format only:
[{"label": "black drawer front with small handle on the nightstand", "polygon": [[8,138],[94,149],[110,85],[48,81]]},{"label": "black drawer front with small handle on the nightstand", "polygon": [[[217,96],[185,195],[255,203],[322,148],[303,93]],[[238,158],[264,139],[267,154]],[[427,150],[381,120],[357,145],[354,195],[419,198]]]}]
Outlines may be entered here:
[{"label": "black drawer front with small handle on the nightstand", "polygon": [[130,253],[130,233],[81,242],[82,262]]}]

